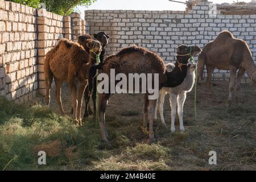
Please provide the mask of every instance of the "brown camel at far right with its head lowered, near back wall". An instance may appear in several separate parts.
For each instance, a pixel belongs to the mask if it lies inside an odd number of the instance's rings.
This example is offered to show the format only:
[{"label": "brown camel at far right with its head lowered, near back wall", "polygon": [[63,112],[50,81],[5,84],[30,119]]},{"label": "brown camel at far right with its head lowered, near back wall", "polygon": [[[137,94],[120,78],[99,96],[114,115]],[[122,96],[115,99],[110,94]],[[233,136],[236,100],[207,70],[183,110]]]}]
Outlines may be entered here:
[{"label": "brown camel at far right with its head lowered, near back wall", "polygon": [[236,101],[237,90],[240,88],[241,79],[245,71],[251,80],[255,81],[256,78],[256,68],[249,46],[244,40],[234,38],[233,34],[229,31],[220,32],[217,38],[213,42],[208,43],[200,53],[197,80],[203,75],[204,65],[207,67],[207,87],[216,102],[219,101],[214,96],[212,85],[210,84],[212,72],[215,68],[230,70],[227,105],[232,102],[233,96],[235,96]]}]

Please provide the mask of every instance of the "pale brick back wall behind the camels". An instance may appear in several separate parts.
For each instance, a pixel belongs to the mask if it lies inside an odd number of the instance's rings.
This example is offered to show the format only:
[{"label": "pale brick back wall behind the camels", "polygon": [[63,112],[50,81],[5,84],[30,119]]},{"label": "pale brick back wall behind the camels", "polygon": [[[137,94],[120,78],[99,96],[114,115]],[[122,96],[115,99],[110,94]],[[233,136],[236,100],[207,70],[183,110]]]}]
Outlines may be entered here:
[{"label": "pale brick back wall behind the camels", "polygon": [[[86,30],[90,34],[108,32],[108,55],[137,44],[158,53],[166,62],[175,61],[175,48],[180,44],[203,48],[220,31],[229,30],[249,44],[255,58],[256,15],[222,15],[217,11],[216,16],[212,16],[209,14],[212,5],[211,2],[199,2],[189,11],[87,10]],[[229,80],[229,72],[216,69],[213,78]],[[242,82],[250,82],[247,75]]]}]

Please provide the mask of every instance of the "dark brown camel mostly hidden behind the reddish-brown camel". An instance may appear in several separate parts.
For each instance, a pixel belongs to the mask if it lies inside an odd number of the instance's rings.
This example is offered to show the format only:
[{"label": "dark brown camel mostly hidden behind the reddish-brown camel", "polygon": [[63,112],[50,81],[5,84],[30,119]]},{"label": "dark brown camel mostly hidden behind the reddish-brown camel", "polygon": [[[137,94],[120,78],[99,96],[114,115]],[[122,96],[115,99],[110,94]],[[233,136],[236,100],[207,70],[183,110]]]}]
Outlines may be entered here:
[{"label": "dark brown camel mostly hidden behind the reddish-brown camel", "polygon": [[[109,43],[109,35],[105,32],[98,32],[98,34],[93,34],[94,39],[98,40],[101,43],[102,51],[100,54],[100,64],[104,61],[104,55],[105,55],[105,47]],[[77,43],[79,43],[82,47],[85,48],[85,50],[89,53],[89,48],[86,47],[86,43],[92,42],[93,38],[90,35],[81,35],[79,36],[79,40]],[[95,73],[94,73],[95,74]],[[90,96],[92,95],[93,99],[93,111],[90,109],[89,101]],[[96,79],[92,78],[92,80],[89,80],[89,86],[86,87],[84,92],[84,98],[85,98],[85,112],[84,112],[84,118],[88,117],[90,114],[96,115]],[[71,111],[73,114],[73,109]]]}]

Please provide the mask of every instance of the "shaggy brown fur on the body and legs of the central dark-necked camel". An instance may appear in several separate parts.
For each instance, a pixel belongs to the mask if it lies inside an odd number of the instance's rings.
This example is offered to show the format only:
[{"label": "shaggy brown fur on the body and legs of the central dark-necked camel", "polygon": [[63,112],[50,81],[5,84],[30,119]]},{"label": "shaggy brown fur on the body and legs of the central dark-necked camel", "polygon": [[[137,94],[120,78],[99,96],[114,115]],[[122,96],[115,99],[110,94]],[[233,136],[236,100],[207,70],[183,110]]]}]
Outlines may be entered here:
[{"label": "shaggy brown fur on the body and legs of the central dark-necked camel", "polygon": [[[190,48],[184,46],[186,49]],[[197,47],[198,48],[198,47]],[[196,49],[197,49],[196,48]],[[201,51],[201,49],[199,48]],[[186,52],[186,53],[189,53]],[[192,48],[192,53],[193,48]],[[199,52],[198,52],[199,53]],[[188,61],[188,59],[187,59]],[[165,82],[167,82],[166,65],[164,61],[154,52],[150,52],[145,48],[132,46],[122,49],[117,55],[109,56],[104,60],[101,67],[101,73],[106,73],[110,77],[110,69],[115,69],[115,74],[124,73],[128,76],[129,73],[158,73],[159,74],[159,89],[161,89]],[[154,78],[154,77],[153,77]],[[169,80],[170,82],[172,80]],[[154,79],[152,80],[152,85]],[[140,82],[140,88],[142,83]],[[153,85],[154,86],[154,85]],[[102,140],[108,142],[108,133],[105,129],[105,110],[109,100],[110,94],[100,94],[98,121],[100,122]],[[147,127],[147,119],[149,121],[149,140],[154,141],[154,113],[156,100],[148,100],[148,93],[144,95],[144,109],[143,109],[143,127]]]}]

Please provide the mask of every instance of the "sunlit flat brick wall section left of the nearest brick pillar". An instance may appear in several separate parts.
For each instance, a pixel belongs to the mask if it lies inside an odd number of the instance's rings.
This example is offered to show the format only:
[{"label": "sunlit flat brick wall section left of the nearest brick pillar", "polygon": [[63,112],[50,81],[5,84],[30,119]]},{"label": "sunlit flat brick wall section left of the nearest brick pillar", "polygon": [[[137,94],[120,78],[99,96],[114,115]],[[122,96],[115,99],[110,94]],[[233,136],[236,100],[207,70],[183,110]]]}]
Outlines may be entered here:
[{"label": "sunlit flat brick wall section left of the nearest brick pillar", "polygon": [[36,9],[0,1],[0,93],[26,102],[36,96]]}]

